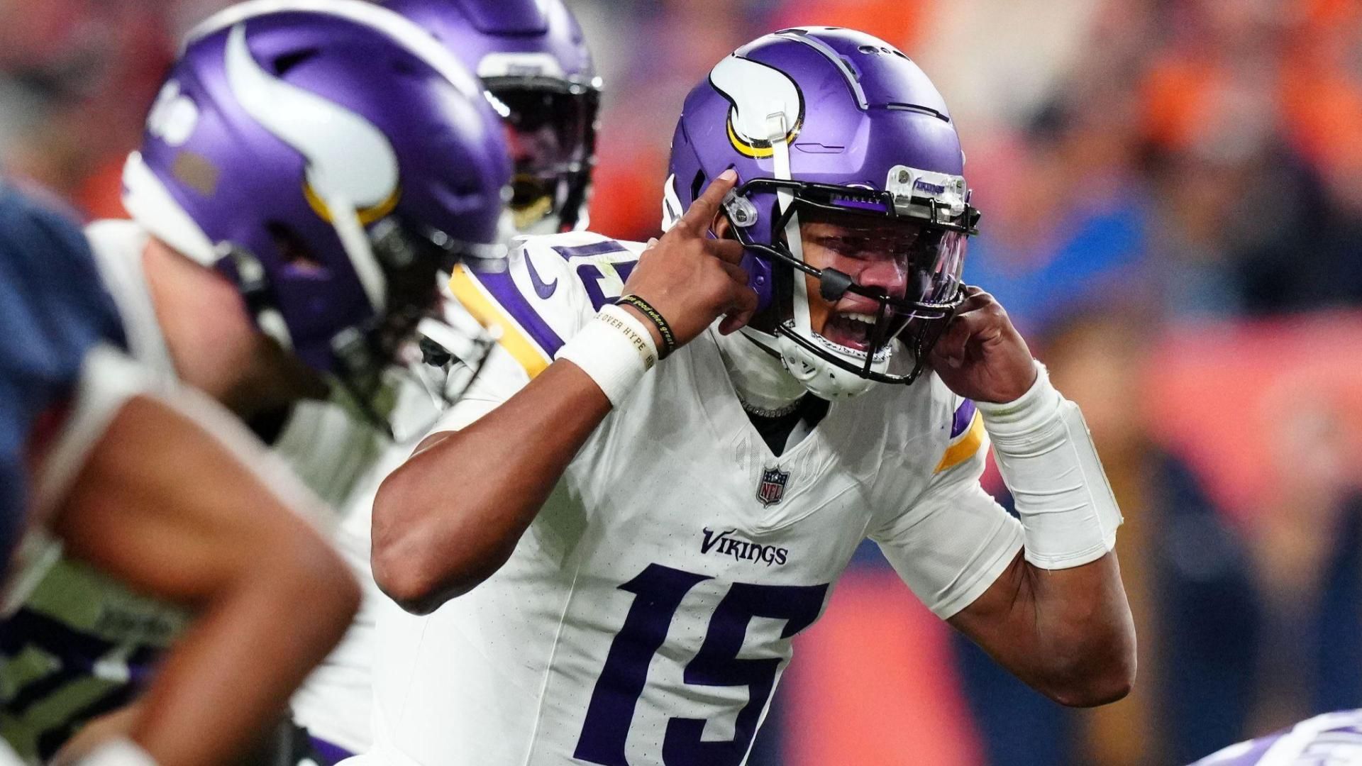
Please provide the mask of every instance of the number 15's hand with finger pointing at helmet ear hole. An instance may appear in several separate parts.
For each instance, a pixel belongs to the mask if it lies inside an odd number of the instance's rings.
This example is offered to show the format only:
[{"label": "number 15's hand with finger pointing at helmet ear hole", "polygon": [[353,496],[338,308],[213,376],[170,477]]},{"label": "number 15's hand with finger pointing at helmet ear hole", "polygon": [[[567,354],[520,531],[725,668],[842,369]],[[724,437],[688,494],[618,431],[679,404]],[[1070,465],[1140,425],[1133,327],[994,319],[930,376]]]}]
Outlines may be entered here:
[{"label": "number 15's hand with finger pointing at helmet ear hole", "polygon": [[[624,294],[648,301],[666,319],[677,346],[689,342],[719,316],[726,316],[720,331],[731,333],[746,324],[757,308],[748,273],[738,266],[742,245],[710,236],[723,195],[737,180],[731,169],[720,173],[685,215],[643,251],[624,285]],[[633,307],[628,309],[648,323],[642,312]],[[661,343],[661,334],[654,333],[654,339]]]}]

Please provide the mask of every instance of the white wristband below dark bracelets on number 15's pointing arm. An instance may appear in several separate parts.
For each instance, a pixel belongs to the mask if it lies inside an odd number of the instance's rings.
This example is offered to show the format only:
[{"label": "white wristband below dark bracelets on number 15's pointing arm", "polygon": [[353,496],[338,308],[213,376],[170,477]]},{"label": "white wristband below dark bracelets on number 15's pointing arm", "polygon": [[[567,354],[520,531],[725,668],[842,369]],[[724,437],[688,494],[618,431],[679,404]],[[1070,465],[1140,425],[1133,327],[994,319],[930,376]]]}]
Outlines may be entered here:
[{"label": "white wristband below dark bracelets on number 15's pointing arm", "polygon": [[643,322],[612,304],[601,308],[554,358],[580,367],[605,391],[610,405],[620,406],[643,373],[656,364],[658,346]]}]

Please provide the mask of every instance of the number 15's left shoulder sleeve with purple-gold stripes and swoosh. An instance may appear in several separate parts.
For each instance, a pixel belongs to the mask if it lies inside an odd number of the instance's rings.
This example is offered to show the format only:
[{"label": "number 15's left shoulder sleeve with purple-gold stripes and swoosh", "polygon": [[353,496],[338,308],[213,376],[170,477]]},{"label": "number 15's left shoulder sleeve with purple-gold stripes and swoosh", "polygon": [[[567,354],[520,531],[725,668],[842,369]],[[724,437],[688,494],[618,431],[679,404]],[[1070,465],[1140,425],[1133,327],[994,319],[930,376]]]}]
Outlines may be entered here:
[{"label": "number 15's left shoulder sleeve with purple-gold stripes and swoosh", "polygon": [[497,334],[497,345],[434,431],[464,428],[543,372],[602,305],[620,297],[642,249],[639,243],[571,232],[520,240],[505,271],[456,267],[454,296]]}]

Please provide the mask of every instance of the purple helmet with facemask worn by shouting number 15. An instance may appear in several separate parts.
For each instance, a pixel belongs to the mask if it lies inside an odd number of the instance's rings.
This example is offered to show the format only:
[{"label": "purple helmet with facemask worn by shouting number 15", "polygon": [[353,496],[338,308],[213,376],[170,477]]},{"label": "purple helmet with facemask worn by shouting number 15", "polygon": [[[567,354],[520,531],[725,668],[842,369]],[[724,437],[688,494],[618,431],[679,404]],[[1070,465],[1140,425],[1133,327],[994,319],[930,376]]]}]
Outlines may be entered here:
[{"label": "purple helmet with facemask worn by shouting number 15", "polygon": [[[719,61],[686,97],[671,142],[663,228],[711,179],[737,169],[740,187],[725,214],[746,247],[744,267],[761,307],[778,312],[776,338],[765,339],[814,394],[853,395],[870,382],[911,383],[962,300],[964,241],[979,218],[963,166],[941,94],[907,56],[854,30],[782,30]],[[801,217],[891,232],[907,294],[805,263]],[[866,350],[810,328],[802,274],[817,279],[828,301],[847,292],[877,301]],[[899,335],[913,364],[889,372]]]}]

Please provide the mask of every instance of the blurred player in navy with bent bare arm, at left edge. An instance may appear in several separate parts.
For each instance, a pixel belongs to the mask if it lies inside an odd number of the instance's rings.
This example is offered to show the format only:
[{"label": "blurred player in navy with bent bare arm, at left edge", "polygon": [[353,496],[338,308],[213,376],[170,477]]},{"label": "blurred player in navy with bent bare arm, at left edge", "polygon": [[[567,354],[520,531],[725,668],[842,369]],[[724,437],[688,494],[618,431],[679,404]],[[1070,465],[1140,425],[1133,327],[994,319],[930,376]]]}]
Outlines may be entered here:
[{"label": "blurred player in navy with bent bare arm, at left edge", "polygon": [[[244,429],[123,356],[120,318],[79,229],[3,184],[0,277],[7,559],[25,537],[7,605],[61,545],[131,587],[195,607],[199,619],[124,736],[86,762],[229,761],[340,638],[354,582],[294,514],[316,502],[251,468],[262,455]],[[293,620],[300,609],[312,619]],[[8,664],[33,671],[44,660]]]}]

